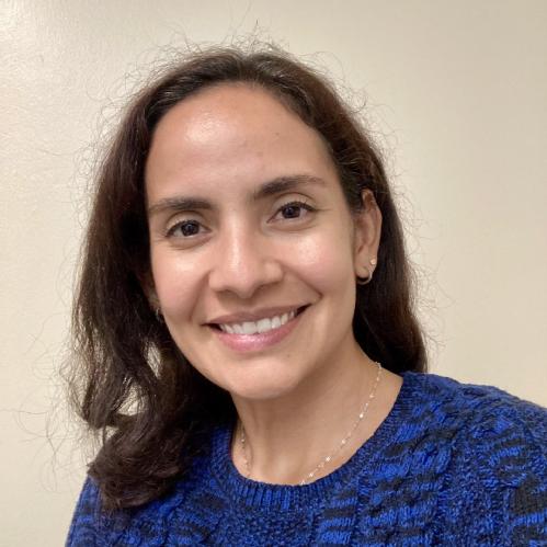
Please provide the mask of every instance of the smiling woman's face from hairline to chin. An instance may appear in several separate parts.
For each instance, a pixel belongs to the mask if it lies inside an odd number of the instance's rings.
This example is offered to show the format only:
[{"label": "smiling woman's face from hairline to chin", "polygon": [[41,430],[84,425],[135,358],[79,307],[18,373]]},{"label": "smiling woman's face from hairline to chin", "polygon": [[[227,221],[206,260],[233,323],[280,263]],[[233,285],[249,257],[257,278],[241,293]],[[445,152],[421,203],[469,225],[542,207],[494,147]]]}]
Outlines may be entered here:
[{"label": "smiling woman's face from hairline to chin", "polygon": [[224,84],[170,110],[146,192],[151,298],[209,380],[280,397],[353,344],[356,264],[374,250],[323,141],[271,94]]}]

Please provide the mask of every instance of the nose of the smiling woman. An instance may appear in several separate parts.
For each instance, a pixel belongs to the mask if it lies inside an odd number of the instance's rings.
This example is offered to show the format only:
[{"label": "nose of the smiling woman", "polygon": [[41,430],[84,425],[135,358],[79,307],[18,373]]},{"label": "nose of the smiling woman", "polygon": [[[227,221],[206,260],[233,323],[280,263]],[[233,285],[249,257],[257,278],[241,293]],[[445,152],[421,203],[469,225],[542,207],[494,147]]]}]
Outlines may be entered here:
[{"label": "nose of the smiling woman", "polygon": [[262,286],[283,278],[275,244],[260,231],[241,227],[226,230],[217,240],[209,286],[251,298]]}]

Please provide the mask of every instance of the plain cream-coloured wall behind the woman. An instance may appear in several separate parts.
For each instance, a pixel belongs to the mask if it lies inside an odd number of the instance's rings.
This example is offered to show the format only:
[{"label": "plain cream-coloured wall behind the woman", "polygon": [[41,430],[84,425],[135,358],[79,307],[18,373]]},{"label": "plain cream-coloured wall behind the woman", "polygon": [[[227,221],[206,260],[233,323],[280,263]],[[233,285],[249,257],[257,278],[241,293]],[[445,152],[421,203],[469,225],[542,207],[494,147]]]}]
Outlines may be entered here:
[{"label": "plain cream-coloured wall behind the woman", "polygon": [[0,545],[61,545],[84,451],[62,406],[86,184],[186,38],[255,33],[366,100],[421,275],[431,372],[547,404],[547,2],[1,3]]}]

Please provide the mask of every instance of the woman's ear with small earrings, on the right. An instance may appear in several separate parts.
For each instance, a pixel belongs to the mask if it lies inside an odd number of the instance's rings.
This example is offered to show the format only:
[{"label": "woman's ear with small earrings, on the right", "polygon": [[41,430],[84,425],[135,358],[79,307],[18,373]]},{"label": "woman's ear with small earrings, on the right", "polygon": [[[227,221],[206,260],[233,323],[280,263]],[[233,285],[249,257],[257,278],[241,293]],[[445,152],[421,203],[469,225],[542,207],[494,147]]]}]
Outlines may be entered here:
[{"label": "woman's ear with small earrings, on the right", "polygon": [[354,215],[354,249],[353,258],[355,275],[369,277],[378,258],[381,235],[381,213],[371,190],[361,193],[363,208]]}]

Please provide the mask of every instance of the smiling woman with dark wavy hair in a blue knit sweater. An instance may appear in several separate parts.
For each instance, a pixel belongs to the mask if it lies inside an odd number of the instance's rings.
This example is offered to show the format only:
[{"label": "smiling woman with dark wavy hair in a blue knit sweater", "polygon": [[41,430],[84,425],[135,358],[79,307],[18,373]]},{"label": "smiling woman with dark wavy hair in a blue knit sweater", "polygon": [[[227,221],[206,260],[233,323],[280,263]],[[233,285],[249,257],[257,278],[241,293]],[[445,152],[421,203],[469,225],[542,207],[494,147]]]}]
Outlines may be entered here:
[{"label": "smiling woman with dark wavy hair in a blue knit sweater", "polygon": [[103,433],[68,545],[539,545],[546,412],[424,374],[377,151],[312,70],[210,49],[130,105],[75,306]]}]

